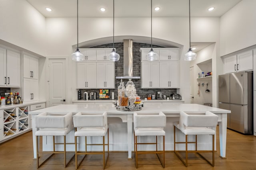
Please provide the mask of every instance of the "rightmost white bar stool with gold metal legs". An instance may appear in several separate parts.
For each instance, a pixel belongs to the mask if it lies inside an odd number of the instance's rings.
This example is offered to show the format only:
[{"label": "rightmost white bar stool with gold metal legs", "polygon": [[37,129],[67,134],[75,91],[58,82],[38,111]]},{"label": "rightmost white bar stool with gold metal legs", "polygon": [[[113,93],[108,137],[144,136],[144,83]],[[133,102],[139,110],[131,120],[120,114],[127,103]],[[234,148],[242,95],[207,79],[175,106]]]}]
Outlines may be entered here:
[{"label": "rightmost white bar stool with gold metal legs", "polygon": [[[187,114],[183,111],[180,112],[180,122],[174,122],[174,153],[180,158],[184,165],[188,166],[188,153],[198,153],[209,164],[214,166],[214,135],[218,122],[218,116],[210,111],[206,111],[205,114]],[[211,128],[212,127],[212,128]],[[184,135],[186,135],[185,142],[176,142],[175,129],[179,129]],[[188,142],[188,135],[195,135],[195,141]],[[197,149],[197,135],[212,135],[212,150],[198,150]],[[185,143],[185,150],[176,150],[176,144]],[[195,150],[188,150],[188,143],[195,143]],[[184,159],[178,154],[178,152],[185,152],[186,158]],[[200,152],[212,152],[212,163],[207,160]]]}]

